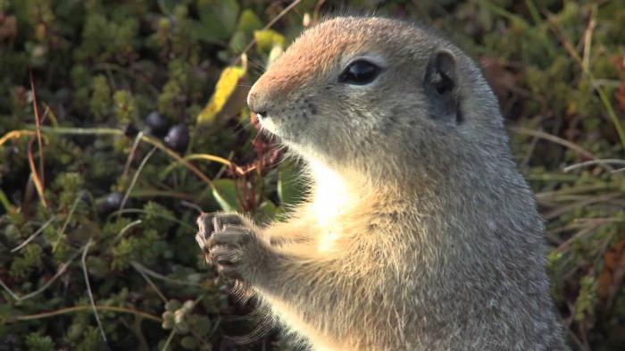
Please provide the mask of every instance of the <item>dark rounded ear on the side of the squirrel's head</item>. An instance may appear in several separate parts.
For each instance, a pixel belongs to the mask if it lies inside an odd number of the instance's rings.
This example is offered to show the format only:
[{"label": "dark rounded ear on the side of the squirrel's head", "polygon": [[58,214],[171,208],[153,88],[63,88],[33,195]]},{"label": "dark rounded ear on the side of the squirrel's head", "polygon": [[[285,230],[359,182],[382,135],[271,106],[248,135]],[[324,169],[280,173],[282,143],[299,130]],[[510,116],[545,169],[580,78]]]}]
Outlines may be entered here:
[{"label": "dark rounded ear on the side of the squirrel's head", "polygon": [[425,73],[424,86],[433,118],[454,116],[456,122],[462,121],[454,54],[446,49],[438,49],[432,54]]}]

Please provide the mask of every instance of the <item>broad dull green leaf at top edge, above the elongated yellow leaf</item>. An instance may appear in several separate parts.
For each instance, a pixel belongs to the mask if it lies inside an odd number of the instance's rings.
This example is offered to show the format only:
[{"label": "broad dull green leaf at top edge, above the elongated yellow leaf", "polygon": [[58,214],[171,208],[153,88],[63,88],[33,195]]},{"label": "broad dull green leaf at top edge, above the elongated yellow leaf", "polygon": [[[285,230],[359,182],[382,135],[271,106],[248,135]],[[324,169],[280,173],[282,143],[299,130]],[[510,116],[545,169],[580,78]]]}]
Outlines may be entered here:
[{"label": "broad dull green leaf at top edge, above the elongated yellow leaf", "polygon": [[[209,38],[209,42],[223,41],[234,33],[237,29],[237,16],[240,10],[235,0],[199,0],[197,2],[197,12],[205,31],[201,39]],[[212,33],[211,35],[206,35]]]}]

